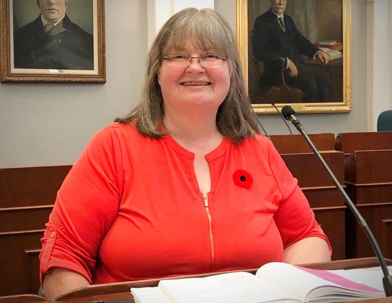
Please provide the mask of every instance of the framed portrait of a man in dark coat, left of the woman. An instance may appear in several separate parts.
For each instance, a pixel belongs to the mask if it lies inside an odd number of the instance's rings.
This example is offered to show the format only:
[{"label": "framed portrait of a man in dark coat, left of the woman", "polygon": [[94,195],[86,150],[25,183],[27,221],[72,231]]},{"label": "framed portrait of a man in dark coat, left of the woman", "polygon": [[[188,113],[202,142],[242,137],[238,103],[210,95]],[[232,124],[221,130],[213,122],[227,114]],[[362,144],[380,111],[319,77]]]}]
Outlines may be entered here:
[{"label": "framed portrait of a man in dark coat, left of the woman", "polygon": [[0,0],[2,82],[105,83],[104,0]]}]

